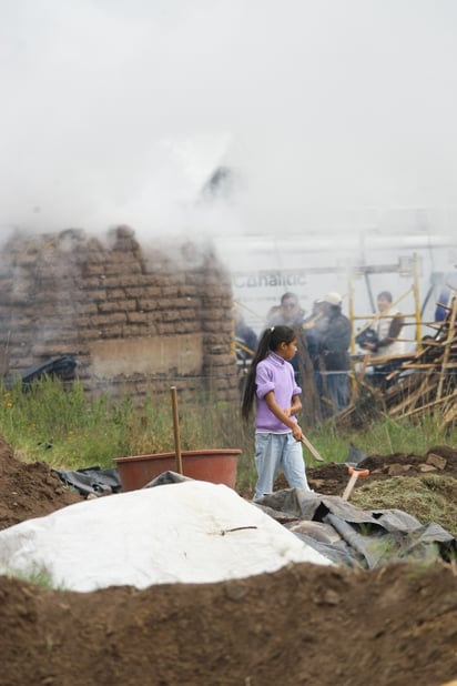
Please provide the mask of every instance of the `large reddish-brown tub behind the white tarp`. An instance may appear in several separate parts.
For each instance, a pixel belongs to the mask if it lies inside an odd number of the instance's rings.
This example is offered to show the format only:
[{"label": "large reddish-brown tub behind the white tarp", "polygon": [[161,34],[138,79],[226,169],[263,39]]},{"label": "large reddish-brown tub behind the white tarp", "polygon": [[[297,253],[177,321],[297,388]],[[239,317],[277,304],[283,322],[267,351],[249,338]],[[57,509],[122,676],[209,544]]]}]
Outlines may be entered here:
[{"label": "large reddish-brown tub behind the white tarp", "polygon": [[[236,465],[241,451],[222,448],[182,451],[183,475],[213,484],[235,487]],[[177,472],[175,453],[114,457],[123,491],[143,488],[162,472]]]}]

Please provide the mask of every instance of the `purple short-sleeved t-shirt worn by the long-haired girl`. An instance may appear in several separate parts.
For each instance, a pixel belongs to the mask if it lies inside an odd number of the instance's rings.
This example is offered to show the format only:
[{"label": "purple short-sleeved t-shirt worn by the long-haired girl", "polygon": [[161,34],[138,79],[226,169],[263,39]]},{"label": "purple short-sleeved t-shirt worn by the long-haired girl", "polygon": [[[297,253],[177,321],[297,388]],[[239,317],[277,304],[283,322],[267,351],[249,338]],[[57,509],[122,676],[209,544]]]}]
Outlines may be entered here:
[{"label": "purple short-sleeved t-shirt worn by the long-haired girl", "polygon": [[[302,393],[302,389],[295,382],[294,367],[276,353],[270,353],[267,357],[261,360],[255,371],[257,412],[254,426],[257,432],[290,433],[291,428],[271,412],[265,402],[265,395],[270,391],[274,392],[276,403],[282,410],[291,406],[293,395]],[[291,416],[291,420],[296,422],[295,416]]]}]

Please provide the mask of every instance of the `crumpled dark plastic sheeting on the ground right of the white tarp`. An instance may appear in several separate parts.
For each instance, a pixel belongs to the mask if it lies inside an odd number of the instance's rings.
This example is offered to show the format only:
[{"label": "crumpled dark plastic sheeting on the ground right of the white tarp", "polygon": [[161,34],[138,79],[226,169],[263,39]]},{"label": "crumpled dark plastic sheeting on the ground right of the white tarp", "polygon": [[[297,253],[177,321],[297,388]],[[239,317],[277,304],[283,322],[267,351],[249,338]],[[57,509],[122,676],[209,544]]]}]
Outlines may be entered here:
[{"label": "crumpled dark plastic sheeting on the ground right of the white tarp", "polygon": [[375,569],[389,562],[450,562],[457,539],[439,524],[420,524],[400,510],[359,510],[336,495],[285,488],[255,501],[328,559]]}]

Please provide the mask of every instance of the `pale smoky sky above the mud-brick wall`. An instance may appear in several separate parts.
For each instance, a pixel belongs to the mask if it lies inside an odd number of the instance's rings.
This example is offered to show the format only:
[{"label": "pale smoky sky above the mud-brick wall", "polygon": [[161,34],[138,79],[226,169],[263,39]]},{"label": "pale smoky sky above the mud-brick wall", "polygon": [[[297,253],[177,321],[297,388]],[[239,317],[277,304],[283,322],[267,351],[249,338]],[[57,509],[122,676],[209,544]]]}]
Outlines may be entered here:
[{"label": "pale smoky sky above the mud-brick wall", "polygon": [[455,0],[0,0],[0,225],[449,229],[456,64]]}]

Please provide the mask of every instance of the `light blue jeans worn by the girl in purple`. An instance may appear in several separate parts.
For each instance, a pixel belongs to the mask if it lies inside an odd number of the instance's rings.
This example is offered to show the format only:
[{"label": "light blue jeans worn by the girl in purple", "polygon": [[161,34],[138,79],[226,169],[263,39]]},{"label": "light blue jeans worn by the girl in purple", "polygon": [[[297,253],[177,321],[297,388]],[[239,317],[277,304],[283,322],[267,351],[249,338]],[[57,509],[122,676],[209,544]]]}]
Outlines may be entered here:
[{"label": "light blue jeans worn by the girl in purple", "polygon": [[292,432],[287,434],[256,433],[255,466],[258,474],[255,498],[273,493],[280,467],[282,467],[291,488],[309,491],[302,444],[295,441]]}]

